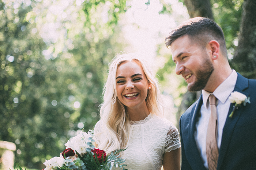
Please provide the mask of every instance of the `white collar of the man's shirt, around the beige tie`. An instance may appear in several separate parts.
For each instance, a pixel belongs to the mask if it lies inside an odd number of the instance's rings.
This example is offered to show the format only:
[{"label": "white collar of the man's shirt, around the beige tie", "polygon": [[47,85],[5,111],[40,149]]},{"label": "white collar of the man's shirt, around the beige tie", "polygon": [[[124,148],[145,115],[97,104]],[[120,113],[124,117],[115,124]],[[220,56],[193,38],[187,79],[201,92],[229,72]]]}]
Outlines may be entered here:
[{"label": "white collar of the man's shirt, around the beige tie", "polygon": [[232,70],[231,74],[224,80],[213,93],[202,90],[204,107],[207,107],[207,100],[210,94],[213,94],[222,104],[224,104],[234,90],[237,81],[237,72]]}]

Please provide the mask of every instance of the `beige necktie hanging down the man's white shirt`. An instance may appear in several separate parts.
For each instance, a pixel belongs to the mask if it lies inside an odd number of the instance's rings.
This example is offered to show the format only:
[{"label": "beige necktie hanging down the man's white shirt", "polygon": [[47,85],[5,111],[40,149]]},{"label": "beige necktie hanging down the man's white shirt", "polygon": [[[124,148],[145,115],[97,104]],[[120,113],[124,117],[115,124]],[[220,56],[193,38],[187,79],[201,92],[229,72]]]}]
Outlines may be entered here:
[{"label": "beige necktie hanging down the man's white shirt", "polygon": [[216,109],[216,97],[214,95],[209,96],[209,102],[211,107],[211,116],[209,119],[207,135],[206,135],[206,156],[209,170],[216,170],[218,164],[218,145],[217,145],[217,129],[218,118]]}]

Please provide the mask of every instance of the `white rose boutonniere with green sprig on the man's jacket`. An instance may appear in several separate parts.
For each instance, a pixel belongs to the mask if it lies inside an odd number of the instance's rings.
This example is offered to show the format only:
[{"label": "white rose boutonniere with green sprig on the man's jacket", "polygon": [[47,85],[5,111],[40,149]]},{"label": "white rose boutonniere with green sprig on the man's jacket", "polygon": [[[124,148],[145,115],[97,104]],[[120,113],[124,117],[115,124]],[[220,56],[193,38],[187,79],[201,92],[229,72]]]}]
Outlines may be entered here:
[{"label": "white rose boutonniere with green sprig on the man's jacket", "polygon": [[241,104],[244,104],[244,106],[245,106],[246,103],[251,103],[250,97],[247,98],[246,95],[244,95],[238,91],[232,92],[231,96],[229,96],[229,100],[230,100],[230,103],[236,103],[235,106],[233,107],[231,114],[229,115],[230,118],[232,118],[234,112],[236,111],[236,109],[238,107],[241,106]]}]

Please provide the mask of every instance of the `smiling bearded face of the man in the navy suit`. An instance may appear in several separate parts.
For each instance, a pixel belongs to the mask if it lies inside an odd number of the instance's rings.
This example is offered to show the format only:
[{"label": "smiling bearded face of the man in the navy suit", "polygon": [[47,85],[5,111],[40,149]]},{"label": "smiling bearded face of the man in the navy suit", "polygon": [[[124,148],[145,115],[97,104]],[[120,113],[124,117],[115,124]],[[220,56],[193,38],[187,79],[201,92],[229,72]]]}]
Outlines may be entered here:
[{"label": "smiling bearded face of the man in the navy suit", "polygon": [[188,83],[189,91],[199,91],[207,86],[214,70],[206,48],[185,35],[171,45],[172,58],[176,63],[175,72]]}]

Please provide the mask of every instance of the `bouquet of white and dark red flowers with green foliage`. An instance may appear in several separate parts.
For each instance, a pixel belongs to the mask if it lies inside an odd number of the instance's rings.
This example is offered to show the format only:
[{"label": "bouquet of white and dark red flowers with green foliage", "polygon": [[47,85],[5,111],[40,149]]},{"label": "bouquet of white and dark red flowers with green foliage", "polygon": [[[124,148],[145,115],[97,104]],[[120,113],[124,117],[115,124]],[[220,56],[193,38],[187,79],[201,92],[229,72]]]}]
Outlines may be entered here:
[{"label": "bouquet of white and dark red flowers with green foliage", "polygon": [[96,149],[93,142],[92,132],[81,131],[65,144],[66,149],[60,157],[45,161],[44,170],[111,170],[113,167],[127,170],[123,164],[125,160],[119,157],[119,153],[125,149],[106,155],[105,151]]}]

